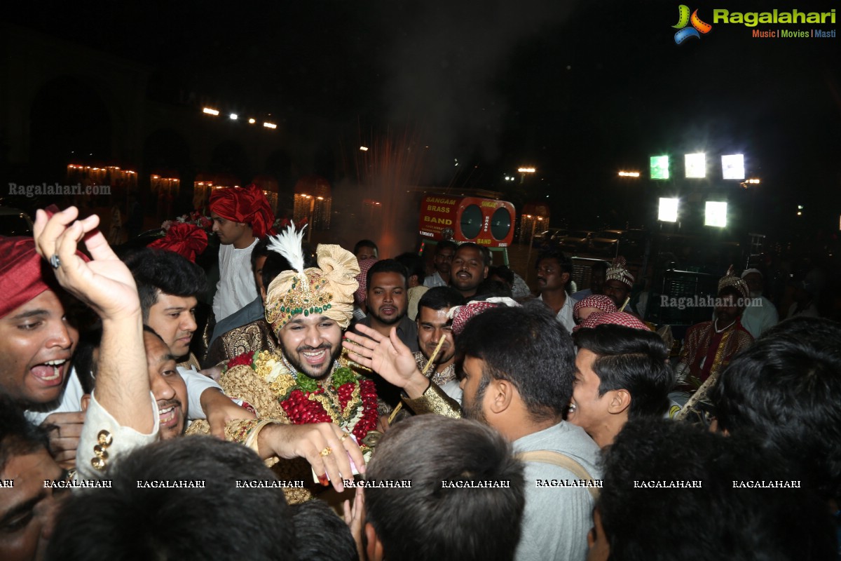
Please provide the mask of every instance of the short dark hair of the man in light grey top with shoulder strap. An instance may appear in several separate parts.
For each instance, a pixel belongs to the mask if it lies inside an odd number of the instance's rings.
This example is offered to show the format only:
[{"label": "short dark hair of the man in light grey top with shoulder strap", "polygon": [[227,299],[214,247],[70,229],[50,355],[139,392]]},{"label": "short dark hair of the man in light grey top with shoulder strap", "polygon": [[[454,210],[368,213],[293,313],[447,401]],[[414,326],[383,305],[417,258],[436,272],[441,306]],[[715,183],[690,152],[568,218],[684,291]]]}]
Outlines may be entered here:
[{"label": "short dark hair of the man in light grey top with shoulder strap", "polygon": [[484,361],[479,392],[491,379],[514,384],[534,421],[563,415],[573,393],[575,350],[569,333],[540,301],[487,310],[456,341],[459,361]]}]

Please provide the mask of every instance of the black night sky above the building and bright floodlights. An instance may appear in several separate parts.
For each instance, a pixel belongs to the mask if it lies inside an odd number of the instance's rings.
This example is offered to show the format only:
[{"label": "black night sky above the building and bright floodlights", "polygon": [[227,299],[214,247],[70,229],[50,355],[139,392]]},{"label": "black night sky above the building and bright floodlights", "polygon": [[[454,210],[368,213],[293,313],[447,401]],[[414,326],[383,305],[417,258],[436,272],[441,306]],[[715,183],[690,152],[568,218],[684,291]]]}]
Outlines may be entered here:
[{"label": "black night sky above the building and bright floodlights", "polygon": [[[47,2],[9,19],[272,114],[408,124],[432,148],[431,183],[500,188],[504,172],[527,162],[539,177],[526,196],[550,194],[553,211],[569,215],[569,205],[627,196],[616,171],[644,172],[649,155],[743,151],[748,173],[763,178],[760,212],[789,216],[805,204],[837,227],[841,38],[761,40],[718,24],[675,45],[678,4]],[[711,23],[712,8],[841,3],[690,8]]]}]

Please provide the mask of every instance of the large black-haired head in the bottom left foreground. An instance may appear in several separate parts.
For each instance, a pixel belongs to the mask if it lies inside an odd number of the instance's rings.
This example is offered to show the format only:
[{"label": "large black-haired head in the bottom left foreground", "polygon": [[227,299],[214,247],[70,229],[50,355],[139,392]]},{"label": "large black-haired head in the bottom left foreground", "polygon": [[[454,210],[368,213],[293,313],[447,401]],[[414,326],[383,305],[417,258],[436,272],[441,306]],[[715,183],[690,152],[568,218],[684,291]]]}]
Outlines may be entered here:
[{"label": "large black-haired head in the bottom left foreground", "polygon": [[[237,488],[277,479],[257,454],[212,437],[140,447],[108,471],[110,489],[71,496],[48,559],[293,559],[283,490]],[[203,480],[204,489],[148,489],[138,481]]]}]

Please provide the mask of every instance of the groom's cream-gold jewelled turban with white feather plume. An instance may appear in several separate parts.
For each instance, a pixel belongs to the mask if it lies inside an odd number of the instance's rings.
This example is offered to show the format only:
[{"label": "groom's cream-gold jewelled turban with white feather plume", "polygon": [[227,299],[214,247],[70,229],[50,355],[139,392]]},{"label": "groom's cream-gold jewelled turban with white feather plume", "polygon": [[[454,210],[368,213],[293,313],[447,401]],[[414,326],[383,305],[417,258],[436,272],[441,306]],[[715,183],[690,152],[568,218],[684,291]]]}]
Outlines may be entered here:
[{"label": "groom's cream-gold jewelled turban with white feather plume", "polygon": [[292,269],[280,273],[266,291],[266,320],[275,333],[296,315],[325,315],[346,329],[353,316],[353,293],[359,274],[357,258],[341,246],[320,244],[315,250],[318,267],[304,269],[301,238],[294,223],[268,248],[286,257]]}]

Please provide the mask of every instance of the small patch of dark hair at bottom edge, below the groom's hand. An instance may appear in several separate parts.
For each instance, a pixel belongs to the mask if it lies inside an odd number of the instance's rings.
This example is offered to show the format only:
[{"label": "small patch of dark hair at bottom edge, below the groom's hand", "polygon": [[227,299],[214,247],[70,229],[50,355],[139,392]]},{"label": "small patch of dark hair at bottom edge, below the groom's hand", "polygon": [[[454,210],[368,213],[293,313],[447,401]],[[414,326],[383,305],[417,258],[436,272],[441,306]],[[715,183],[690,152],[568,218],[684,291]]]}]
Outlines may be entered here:
[{"label": "small patch of dark hair at bottom edge, below the groom's hand", "polygon": [[358,561],[351,529],[323,500],[290,505],[295,527],[296,559],[307,561]]}]

